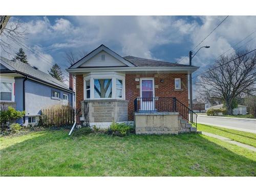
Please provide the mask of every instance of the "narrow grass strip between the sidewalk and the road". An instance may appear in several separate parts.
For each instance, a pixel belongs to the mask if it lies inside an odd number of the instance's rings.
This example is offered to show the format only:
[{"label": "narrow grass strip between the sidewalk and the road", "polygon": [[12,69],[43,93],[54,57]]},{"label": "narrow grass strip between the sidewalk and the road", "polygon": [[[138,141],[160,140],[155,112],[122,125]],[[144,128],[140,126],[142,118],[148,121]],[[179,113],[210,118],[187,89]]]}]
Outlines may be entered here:
[{"label": "narrow grass strip between the sidewalk and the road", "polygon": [[256,134],[253,133],[204,124],[198,124],[197,128],[198,131],[220,135],[232,139],[234,141],[238,141],[256,147]]}]

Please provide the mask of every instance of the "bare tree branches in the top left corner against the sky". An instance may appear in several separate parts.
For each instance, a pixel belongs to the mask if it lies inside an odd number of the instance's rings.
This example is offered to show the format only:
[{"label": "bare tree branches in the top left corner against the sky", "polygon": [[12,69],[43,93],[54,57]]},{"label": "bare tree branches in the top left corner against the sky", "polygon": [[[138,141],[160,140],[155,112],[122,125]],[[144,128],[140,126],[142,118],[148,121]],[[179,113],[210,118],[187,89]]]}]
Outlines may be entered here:
[{"label": "bare tree branches in the top left corner against the sky", "polygon": [[10,41],[15,42],[16,44],[20,44],[21,39],[24,38],[24,36],[27,33],[26,30],[20,29],[20,22],[19,18],[15,23],[8,26],[10,16],[0,16],[0,46],[8,54],[13,55],[11,52],[15,52],[14,48],[11,46]]}]

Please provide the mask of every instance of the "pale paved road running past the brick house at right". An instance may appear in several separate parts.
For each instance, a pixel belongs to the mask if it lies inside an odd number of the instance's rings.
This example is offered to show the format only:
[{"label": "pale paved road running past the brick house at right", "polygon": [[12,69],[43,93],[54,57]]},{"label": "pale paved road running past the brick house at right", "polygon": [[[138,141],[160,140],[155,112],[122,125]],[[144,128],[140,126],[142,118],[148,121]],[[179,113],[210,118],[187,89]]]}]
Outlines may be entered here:
[{"label": "pale paved road running past the brick house at right", "polygon": [[214,118],[199,115],[197,118],[198,123],[221,126],[229,129],[246,131],[256,133],[256,121],[248,119],[228,119],[228,118]]}]

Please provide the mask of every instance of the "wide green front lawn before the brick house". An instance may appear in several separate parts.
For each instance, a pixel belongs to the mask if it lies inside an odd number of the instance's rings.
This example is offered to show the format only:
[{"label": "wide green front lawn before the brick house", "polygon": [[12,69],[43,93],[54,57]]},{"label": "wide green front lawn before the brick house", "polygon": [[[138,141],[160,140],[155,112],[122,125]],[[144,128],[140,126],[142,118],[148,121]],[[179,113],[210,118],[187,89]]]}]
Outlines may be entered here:
[{"label": "wide green front lawn before the brick house", "polygon": [[256,156],[199,134],[91,134],[41,131],[2,137],[1,175],[255,176]]}]

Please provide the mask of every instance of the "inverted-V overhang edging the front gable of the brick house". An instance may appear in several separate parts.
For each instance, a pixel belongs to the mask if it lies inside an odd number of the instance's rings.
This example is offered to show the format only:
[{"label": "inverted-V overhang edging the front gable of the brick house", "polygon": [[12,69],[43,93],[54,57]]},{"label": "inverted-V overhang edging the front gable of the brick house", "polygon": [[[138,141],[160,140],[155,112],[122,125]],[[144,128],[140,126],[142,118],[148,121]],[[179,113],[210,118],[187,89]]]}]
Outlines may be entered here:
[{"label": "inverted-V overhang edging the front gable of the brick house", "polygon": [[123,57],[121,57],[120,55],[118,55],[117,53],[115,53],[114,51],[112,51],[111,49],[109,49],[108,47],[106,47],[102,44],[99,47],[97,47],[95,50],[93,50],[92,52],[88,53],[86,56],[84,56],[83,58],[81,58],[80,60],[75,62],[69,69],[78,68],[80,65],[82,65],[82,63],[88,61],[89,59],[91,59],[92,57],[94,57],[96,54],[98,54],[101,51],[105,51],[106,53],[110,54],[117,60],[123,62],[127,67],[135,67],[133,65],[133,63],[124,59]]}]

